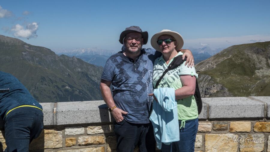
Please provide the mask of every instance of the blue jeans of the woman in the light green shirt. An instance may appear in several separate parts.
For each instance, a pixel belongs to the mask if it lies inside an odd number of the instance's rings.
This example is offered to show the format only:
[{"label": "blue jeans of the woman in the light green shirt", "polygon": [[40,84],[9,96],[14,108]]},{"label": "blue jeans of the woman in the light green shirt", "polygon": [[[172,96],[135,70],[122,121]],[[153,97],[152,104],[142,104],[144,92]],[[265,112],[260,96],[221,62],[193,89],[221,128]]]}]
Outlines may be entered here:
[{"label": "blue jeans of the woman in the light green shirt", "polygon": [[[179,128],[181,125],[181,120],[179,120]],[[194,152],[196,134],[198,131],[198,118],[193,120],[187,120],[185,128],[181,128],[180,141],[175,141],[170,145],[162,143],[161,151],[162,152]]]}]

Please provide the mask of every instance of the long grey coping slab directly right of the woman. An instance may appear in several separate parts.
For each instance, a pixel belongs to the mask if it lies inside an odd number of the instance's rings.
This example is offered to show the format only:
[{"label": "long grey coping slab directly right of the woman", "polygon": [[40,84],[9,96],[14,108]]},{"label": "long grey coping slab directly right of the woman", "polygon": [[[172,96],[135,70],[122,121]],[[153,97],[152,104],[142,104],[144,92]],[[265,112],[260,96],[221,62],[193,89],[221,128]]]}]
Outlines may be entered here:
[{"label": "long grey coping slab directly right of the woman", "polygon": [[202,98],[209,118],[262,118],[264,103],[248,97]]}]

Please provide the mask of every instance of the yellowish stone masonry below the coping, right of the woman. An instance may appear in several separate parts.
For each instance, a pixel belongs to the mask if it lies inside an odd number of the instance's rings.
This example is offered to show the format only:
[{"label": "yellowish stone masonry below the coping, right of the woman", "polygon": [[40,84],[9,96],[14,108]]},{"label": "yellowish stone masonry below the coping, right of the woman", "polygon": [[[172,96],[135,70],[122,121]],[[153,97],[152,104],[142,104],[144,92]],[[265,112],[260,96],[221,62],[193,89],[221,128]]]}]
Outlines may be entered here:
[{"label": "yellowish stone masonry below the coping, right of the woman", "polygon": [[262,121],[199,121],[195,150],[270,151],[270,122]]}]

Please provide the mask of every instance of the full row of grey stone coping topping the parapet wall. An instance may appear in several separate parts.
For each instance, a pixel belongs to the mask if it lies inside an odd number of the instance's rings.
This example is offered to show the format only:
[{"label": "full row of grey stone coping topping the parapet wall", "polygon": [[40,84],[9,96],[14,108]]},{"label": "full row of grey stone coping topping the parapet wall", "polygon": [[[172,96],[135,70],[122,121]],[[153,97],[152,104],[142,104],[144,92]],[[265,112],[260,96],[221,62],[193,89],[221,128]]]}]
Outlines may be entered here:
[{"label": "full row of grey stone coping topping the parapet wall", "polygon": [[[270,117],[270,97],[224,97],[202,98],[202,112],[199,119],[212,118],[263,118]],[[264,106],[267,104],[267,111]],[[113,116],[103,100],[41,103],[44,126],[74,125],[85,123],[109,123]],[[209,109],[207,109],[209,107]],[[0,120],[3,129],[3,120]]]}]

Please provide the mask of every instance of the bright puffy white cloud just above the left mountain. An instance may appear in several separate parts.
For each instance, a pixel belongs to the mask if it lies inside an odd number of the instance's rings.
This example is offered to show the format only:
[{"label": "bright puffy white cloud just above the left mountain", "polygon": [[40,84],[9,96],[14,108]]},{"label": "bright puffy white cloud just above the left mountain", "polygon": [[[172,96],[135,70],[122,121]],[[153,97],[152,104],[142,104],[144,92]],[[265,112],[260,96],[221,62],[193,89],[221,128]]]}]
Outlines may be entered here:
[{"label": "bright puffy white cloud just above the left mountain", "polygon": [[33,22],[30,23],[24,28],[23,26],[16,24],[11,28],[13,35],[19,38],[36,38],[38,35],[36,34],[38,30],[38,23]]}]

